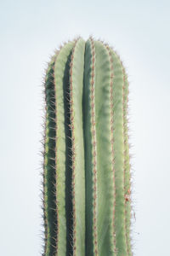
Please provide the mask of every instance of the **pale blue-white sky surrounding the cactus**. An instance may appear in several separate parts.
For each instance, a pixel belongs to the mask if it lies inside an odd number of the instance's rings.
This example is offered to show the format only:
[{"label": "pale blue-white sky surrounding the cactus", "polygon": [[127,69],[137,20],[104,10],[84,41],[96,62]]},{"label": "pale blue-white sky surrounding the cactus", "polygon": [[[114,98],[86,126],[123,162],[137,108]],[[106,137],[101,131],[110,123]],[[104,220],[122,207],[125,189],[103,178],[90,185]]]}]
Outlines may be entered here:
[{"label": "pale blue-white sky surrounding the cactus", "polygon": [[164,0],[0,1],[1,255],[41,255],[42,78],[77,35],[104,39],[127,68],[133,252],[169,255],[169,13]]}]

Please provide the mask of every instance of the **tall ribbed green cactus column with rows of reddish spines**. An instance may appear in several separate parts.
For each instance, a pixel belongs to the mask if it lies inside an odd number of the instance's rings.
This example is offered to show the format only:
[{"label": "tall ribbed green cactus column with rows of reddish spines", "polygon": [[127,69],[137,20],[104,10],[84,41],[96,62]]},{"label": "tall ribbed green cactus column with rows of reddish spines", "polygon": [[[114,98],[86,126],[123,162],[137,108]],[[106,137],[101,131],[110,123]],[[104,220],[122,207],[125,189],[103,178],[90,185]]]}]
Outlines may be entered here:
[{"label": "tall ribbed green cactus column with rows of reddish spines", "polygon": [[132,256],[127,74],[104,42],[69,41],[45,76],[44,256]]}]

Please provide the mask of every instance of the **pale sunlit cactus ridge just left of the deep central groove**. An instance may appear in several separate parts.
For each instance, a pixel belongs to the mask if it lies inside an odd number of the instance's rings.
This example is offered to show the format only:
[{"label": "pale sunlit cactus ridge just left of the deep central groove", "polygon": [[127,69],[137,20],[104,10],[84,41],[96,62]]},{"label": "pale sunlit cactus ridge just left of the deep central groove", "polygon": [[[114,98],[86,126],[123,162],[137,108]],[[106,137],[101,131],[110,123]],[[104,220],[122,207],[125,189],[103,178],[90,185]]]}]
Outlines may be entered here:
[{"label": "pale sunlit cactus ridge just left of the deep central groove", "polygon": [[72,247],[73,255],[83,255],[85,250],[85,170],[82,131],[82,90],[85,42],[76,41],[70,64],[70,112],[72,150]]}]

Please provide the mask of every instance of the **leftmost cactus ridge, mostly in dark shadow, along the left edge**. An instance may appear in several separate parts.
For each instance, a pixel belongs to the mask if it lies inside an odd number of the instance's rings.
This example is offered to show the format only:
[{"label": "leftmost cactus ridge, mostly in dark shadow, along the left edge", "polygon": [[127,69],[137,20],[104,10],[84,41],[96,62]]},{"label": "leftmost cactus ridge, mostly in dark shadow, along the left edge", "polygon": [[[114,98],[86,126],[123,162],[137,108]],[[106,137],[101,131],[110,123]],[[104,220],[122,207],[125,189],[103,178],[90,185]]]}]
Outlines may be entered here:
[{"label": "leftmost cactus ridge, mostly in dark shadow, along the left edge", "polygon": [[[55,111],[54,111],[54,58],[49,63],[45,79],[46,96],[46,129],[44,144],[44,172],[43,172],[43,207],[44,207],[44,226],[45,226],[45,252],[54,252],[50,245],[55,247]],[[53,225],[55,223],[55,225]]]}]

